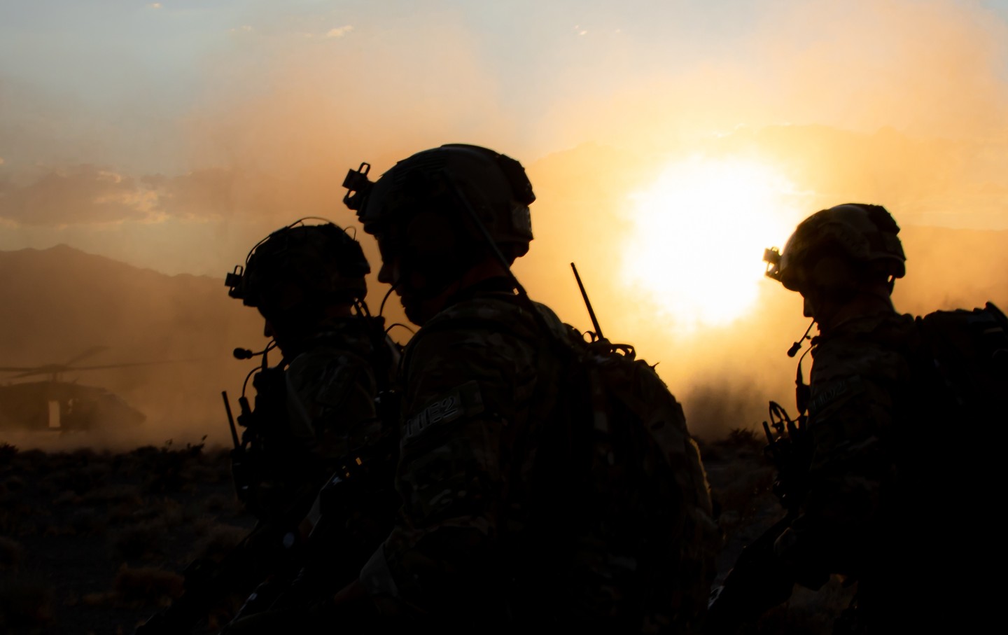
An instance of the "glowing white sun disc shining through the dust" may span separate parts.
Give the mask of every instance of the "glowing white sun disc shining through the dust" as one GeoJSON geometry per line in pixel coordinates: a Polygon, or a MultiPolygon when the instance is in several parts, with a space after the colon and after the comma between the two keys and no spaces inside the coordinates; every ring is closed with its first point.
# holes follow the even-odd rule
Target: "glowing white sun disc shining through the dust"
{"type": "Polygon", "coordinates": [[[630,197],[624,279],[679,330],[727,325],[756,300],[763,249],[780,245],[801,218],[793,197],[787,179],[754,160],[670,164],[630,197]]]}

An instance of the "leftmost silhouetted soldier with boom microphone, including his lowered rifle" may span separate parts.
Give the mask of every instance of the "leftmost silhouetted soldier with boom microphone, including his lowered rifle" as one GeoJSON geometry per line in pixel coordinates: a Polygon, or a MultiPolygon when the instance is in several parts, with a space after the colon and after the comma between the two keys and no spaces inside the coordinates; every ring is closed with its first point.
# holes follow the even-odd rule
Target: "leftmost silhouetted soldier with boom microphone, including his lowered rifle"
{"type": "Polygon", "coordinates": [[[271,338],[259,353],[235,352],[262,356],[255,407],[240,400],[245,429],[232,452],[239,499],[259,522],[223,565],[198,561],[186,572],[186,595],[161,616],[165,631],[191,629],[222,594],[247,595],[264,579],[244,611],[285,594],[291,603],[331,596],[388,532],[399,505],[398,411],[391,405],[382,416],[379,397],[391,401],[399,351],[364,303],[369,271],[343,229],[298,221],[228,275],[229,294],[259,310],[271,338]],[[282,360],[270,367],[274,346],[282,360]]]}

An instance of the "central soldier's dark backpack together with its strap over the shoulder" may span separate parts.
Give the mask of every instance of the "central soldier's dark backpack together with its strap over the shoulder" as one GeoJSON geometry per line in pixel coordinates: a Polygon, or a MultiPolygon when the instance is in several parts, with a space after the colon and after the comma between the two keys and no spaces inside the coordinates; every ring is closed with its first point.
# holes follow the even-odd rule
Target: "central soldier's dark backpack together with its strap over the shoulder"
{"type": "Polygon", "coordinates": [[[503,292],[456,303],[410,346],[457,328],[540,352],[522,397],[534,416],[500,443],[512,470],[499,500],[508,628],[698,632],[720,533],[699,449],[654,368],[503,292]]]}

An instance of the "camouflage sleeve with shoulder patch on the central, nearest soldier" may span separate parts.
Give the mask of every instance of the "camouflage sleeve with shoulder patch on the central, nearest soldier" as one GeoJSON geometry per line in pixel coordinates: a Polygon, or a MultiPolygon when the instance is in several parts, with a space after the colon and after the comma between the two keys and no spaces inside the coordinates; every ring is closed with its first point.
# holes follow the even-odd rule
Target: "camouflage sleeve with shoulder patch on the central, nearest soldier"
{"type": "Polygon", "coordinates": [[[397,477],[402,513],[361,582],[396,611],[486,615],[500,609],[506,439],[527,414],[535,350],[479,331],[421,333],[411,347],[397,477]]]}

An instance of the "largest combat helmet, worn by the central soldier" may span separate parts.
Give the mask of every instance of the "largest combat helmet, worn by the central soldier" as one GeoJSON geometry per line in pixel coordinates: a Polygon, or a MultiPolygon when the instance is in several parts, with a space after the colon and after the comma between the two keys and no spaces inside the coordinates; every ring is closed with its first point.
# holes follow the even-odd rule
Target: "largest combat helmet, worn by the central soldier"
{"type": "Polygon", "coordinates": [[[478,145],[451,143],[399,161],[376,182],[368,180],[369,168],[362,163],[344,181],[350,190],[344,203],[357,212],[369,234],[387,238],[419,214],[448,213],[456,215],[454,222],[466,229],[471,244],[485,246],[489,235],[511,258],[528,252],[528,206],[535,195],[515,159],[478,145]]]}

